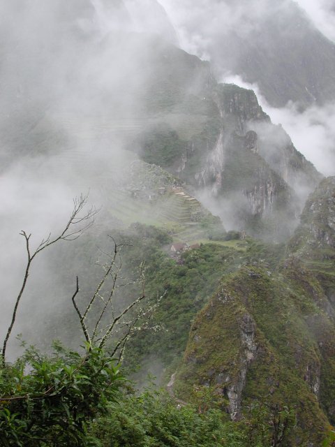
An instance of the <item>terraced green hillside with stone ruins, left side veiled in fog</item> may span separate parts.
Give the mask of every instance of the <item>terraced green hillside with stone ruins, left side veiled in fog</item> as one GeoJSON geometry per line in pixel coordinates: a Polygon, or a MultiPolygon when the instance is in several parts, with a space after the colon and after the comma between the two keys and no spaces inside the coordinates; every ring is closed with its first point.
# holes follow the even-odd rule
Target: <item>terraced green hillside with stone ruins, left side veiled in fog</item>
{"type": "Polygon", "coordinates": [[[115,228],[140,222],[167,230],[175,242],[188,243],[208,240],[216,227],[224,231],[219,219],[177,177],[132,152],[122,151],[111,160],[107,151],[97,152],[92,159],[89,151],[67,150],[54,156],[51,164],[36,164],[35,170],[46,167],[66,180],[73,196],[90,191],[91,201],[102,207],[106,217],[101,220],[115,228]]]}

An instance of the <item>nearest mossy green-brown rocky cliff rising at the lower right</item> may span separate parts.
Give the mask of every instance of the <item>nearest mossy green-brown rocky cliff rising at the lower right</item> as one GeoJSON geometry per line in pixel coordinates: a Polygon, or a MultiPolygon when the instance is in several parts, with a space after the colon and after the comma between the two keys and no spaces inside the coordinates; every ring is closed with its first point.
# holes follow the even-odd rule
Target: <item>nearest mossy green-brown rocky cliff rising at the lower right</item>
{"type": "Polygon", "coordinates": [[[278,268],[263,259],[224,279],[193,322],[175,384],[182,399],[211,390],[232,420],[255,400],[292,406],[295,446],[320,446],[335,422],[334,186],[325,179],[308,199],[278,268]]]}

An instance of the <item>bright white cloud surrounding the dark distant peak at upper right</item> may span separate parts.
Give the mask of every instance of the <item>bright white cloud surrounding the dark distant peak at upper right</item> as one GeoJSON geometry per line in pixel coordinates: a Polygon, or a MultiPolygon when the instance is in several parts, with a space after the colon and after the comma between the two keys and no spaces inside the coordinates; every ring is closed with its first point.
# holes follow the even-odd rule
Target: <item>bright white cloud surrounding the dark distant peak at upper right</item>
{"type": "MultiPolygon", "coordinates": [[[[270,17],[276,17],[276,14],[280,13],[281,18],[278,18],[278,20],[286,20],[286,22],[284,22],[284,25],[281,24],[278,39],[280,40],[288,33],[290,34],[288,43],[284,42],[283,45],[290,45],[290,40],[294,45],[293,33],[299,32],[295,30],[299,29],[300,26],[307,26],[306,17],[327,38],[334,40],[335,20],[334,3],[332,1],[298,1],[297,3],[306,14],[305,18],[304,15],[301,16],[302,22],[299,21],[300,19],[298,20],[299,15],[296,17],[297,10],[292,8],[294,2],[292,3],[289,0],[276,2],[275,4],[267,0],[254,0],[248,2],[248,7],[246,7],[244,1],[232,3],[227,1],[177,2],[175,0],[161,0],[161,3],[172,19],[181,47],[184,47],[186,51],[198,54],[199,57],[209,59],[214,66],[216,78],[219,81],[233,82],[241,87],[253,89],[263,110],[271,117],[274,124],[283,125],[299,152],[304,154],[306,159],[311,161],[323,175],[334,175],[335,101],[331,99],[327,101],[326,95],[323,104],[313,104],[313,100],[312,104],[301,108],[299,101],[290,100],[290,96],[288,96],[288,101],[283,106],[274,107],[269,101],[273,97],[269,96],[267,98],[267,90],[264,85],[261,86],[258,82],[247,82],[243,74],[234,72],[234,57],[237,58],[240,50],[234,46],[235,38],[231,37],[237,33],[241,41],[253,41],[264,23],[270,17]],[[232,45],[232,52],[236,52],[235,56],[234,54],[231,56],[227,50],[223,50],[227,44],[232,45]]],[[[276,20],[276,18],[271,20],[276,20]]],[[[258,41],[255,40],[255,42],[258,41]]],[[[263,44],[267,45],[266,42],[263,44]]],[[[269,45],[273,45],[273,42],[269,42],[269,45]]],[[[250,48],[252,49],[252,44],[250,48]]],[[[280,60],[285,64],[285,54],[288,53],[288,48],[285,47],[283,50],[281,47],[273,47],[273,50],[275,49],[283,53],[279,57],[284,56],[284,59],[280,60]]],[[[316,48],[315,51],[318,51],[318,49],[316,48]]],[[[335,47],[330,51],[334,54],[335,47]]],[[[252,59],[252,52],[250,57],[252,59]]],[[[306,58],[308,54],[304,55],[297,52],[296,57],[306,58]]],[[[295,58],[292,59],[292,63],[295,64],[295,58]]],[[[267,71],[267,60],[263,60],[262,64],[263,66],[260,65],[259,67],[259,74],[262,70],[267,71]]],[[[271,64],[270,59],[269,64],[271,64]]],[[[309,69],[313,71],[313,66],[309,69]]],[[[334,73],[334,70],[332,73],[334,73]]],[[[276,75],[276,73],[274,72],[273,75],[276,75]]],[[[288,75],[290,74],[288,73],[288,75]]],[[[299,77],[299,69],[293,75],[299,77]]],[[[331,73],[330,75],[332,76],[331,73]]],[[[319,82],[322,82],[322,80],[319,82]]],[[[274,86],[276,87],[275,81],[274,86]]]]}

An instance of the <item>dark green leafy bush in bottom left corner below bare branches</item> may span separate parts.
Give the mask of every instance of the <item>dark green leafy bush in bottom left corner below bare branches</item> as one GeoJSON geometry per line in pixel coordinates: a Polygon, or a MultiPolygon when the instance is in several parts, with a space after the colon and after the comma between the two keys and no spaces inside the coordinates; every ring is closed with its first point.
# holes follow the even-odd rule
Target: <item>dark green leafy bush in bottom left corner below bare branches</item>
{"type": "Polygon", "coordinates": [[[0,369],[0,441],[5,447],[99,446],[87,423],[119,398],[115,360],[87,347],[53,356],[28,349],[0,369]]]}

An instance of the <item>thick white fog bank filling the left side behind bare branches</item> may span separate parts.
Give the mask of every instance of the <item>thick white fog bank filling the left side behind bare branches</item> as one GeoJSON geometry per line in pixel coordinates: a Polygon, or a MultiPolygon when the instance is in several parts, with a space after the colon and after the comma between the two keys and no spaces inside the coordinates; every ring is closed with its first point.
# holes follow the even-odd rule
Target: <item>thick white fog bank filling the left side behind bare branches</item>
{"type": "MultiPolygon", "coordinates": [[[[124,146],[142,126],[139,111],[152,75],[151,37],[137,34],[143,10],[132,1],[127,6],[100,0],[1,2],[1,339],[24,278],[20,231],[31,233],[34,249],[64,228],[72,198],[88,192],[89,203],[102,207],[91,239],[114,226],[112,191],[126,186],[136,159],[124,146]]],[[[154,17],[164,18],[157,8],[154,17]]],[[[150,20],[145,27],[157,26],[150,20]]],[[[174,38],[168,25],[166,32],[174,38]]],[[[59,244],[64,247],[57,250],[67,249],[59,244]]],[[[54,270],[57,254],[49,250],[32,266],[11,346],[18,332],[38,341],[38,328],[47,329],[52,313],[59,312],[57,301],[61,306],[68,300],[68,284],[75,286],[75,274],[82,272],[82,265],[72,263],[73,283],[68,278],[63,284],[54,270]]]]}

